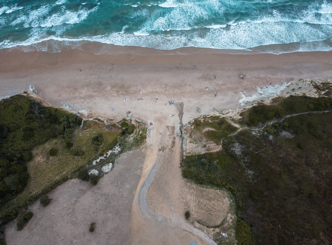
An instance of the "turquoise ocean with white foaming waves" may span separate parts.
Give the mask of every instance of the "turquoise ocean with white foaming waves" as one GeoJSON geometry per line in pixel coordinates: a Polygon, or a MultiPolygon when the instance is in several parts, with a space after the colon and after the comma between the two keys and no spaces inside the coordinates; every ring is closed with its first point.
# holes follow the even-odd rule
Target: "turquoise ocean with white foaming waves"
{"type": "MultiPolygon", "coordinates": [[[[0,0],[0,49],[332,50],[332,0],[0,0]]],[[[100,52],[96,51],[96,53],[100,52]]]]}

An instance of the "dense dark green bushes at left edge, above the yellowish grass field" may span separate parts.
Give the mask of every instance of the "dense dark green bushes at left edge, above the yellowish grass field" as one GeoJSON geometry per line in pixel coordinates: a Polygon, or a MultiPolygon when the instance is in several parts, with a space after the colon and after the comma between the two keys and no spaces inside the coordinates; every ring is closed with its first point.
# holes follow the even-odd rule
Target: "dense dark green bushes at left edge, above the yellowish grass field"
{"type": "MultiPolygon", "coordinates": [[[[52,107],[44,107],[23,95],[0,101],[0,205],[21,193],[28,181],[31,150],[50,138],[71,142],[81,119],[52,107]]],[[[56,154],[56,149],[49,150],[56,154]]]]}

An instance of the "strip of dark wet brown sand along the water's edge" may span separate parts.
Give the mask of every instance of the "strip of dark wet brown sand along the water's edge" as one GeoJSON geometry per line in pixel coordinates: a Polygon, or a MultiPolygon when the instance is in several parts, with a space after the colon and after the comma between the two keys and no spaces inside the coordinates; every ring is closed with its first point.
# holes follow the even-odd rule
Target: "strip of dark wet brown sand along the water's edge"
{"type": "MultiPolygon", "coordinates": [[[[332,54],[331,51],[296,51],[290,53],[260,53],[255,51],[245,50],[225,50],[213,48],[197,48],[197,47],[182,47],[172,50],[159,50],[148,47],[138,46],[116,46],[109,44],[109,49],[104,53],[94,53],[95,49],[101,49],[102,43],[85,43],[80,45],[81,48],[64,49],[60,52],[47,51],[24,51],[21,48],[7,48],[0,49],[0,73],[9,72],[15,69],[38,69],[39,66],[64,66],[72,63],[92,63],[103,62],[107,63],[109,60],[114,60],[117,64],[128,64],[127,56],[141,57],[140,64],[151,64],[151,57],[163,57],[163,59],[153,60],[153,64],[167,65],[173,64],[172,60],[182,59],[184,62],[197,62],[195,64],[209,64],[209,65],[225,65],[241,64],[243,62],[328,62],[328,56],[332,54]],[[109,53],[107,53],[109,52],[109,53]],[[228,53],[232,52],[232,53],[228,53]],[[172,57],[172,58],[169,58],[172,57]],[[181,58],[180,58],[181,57],[181,58]],[[307,61],[303,59],[314,59],[307,61]],[[319,60],[317,60],[319,59],[319,60]],[[19,67],[20,68],[19,68],[19,67]]],[[[113,62],[114,63],[114,62],[113,62]]],[[[42,69],[39,67],[39,69],[42,69]]]]}

